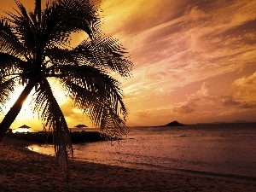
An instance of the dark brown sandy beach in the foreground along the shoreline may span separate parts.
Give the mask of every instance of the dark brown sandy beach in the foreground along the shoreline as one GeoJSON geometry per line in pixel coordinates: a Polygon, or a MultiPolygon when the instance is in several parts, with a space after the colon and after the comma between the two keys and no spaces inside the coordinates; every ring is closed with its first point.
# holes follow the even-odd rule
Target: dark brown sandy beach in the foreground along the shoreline
{"type": "MultiPolygon", "coordinates": [[[[69,191],[55,158],[28,151],[23,143],[0,143],[0,191],[69,191]]],[[[256,191],[255,178],[193,172],[154,172],[71,161],[70,191],[256,191]]]]}

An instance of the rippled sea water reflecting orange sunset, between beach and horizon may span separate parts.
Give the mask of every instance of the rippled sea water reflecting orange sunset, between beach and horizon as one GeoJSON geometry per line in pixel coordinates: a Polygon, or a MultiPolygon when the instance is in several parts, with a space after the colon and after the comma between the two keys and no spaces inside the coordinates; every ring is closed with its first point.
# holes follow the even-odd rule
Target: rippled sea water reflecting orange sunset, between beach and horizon
{"type": "MultiPolygon", "coordinates": [[[[53,154],[49,145],[32,145],[53,154]]],[[[131,127],[120,142],[74,144],[74,160],[256,179],[256,123],[131,127]]]]}

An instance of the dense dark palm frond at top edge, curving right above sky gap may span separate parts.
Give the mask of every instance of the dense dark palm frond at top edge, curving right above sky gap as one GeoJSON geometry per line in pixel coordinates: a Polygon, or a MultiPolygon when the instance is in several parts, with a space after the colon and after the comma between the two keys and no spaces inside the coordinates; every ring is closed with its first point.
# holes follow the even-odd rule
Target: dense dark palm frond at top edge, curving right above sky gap
{"type": "Polygon", "coordinates": [[[48,4],[42,13],[44,42],[48,47],[69,43],[71,32],[83,30],[92,37],[91,24],[96,22],[96,6],[89,0],[59,0],[48,4]]]}

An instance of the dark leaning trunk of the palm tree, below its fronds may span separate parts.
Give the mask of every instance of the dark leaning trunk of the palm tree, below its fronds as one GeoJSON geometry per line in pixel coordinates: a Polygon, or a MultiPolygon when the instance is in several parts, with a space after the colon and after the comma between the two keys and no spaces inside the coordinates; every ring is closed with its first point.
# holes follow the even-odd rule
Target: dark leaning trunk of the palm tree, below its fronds
{"type": "Polygon", "coordinates": [[[13,107],[9,109],[9,112],[3,118],[3,121],[0,124],[0,142],[3,141],[3,137],[9,130],[10,125],[12,125],[12,123],[15,121],[16,117],[20,113],[23,102],[25,102],[26,97],[30,94],[34,86],[35,81],[29,81],[29,83],[26,84],[25,89],[21,92],[13,107]]]}

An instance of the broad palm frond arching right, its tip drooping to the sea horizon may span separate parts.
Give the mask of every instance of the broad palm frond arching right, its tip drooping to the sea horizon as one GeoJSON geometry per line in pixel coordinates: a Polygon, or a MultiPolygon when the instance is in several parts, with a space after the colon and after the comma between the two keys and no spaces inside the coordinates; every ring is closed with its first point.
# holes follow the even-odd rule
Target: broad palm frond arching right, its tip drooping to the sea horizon
{"type": "Polygon", "coordinates": [[[119,82],[90,66],[61,66],[59,70],[66,74],[61,78],[61,83],[73,96],[75,105],[103,132],[109,133],[108,130],[115,129],[115,137],[124,135],[127,110],[122,101],[119,82]]]}

